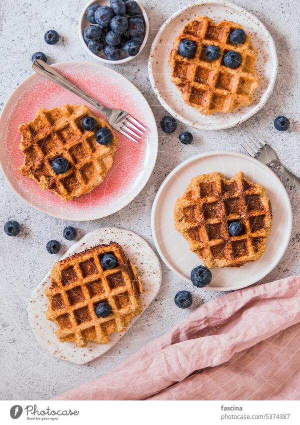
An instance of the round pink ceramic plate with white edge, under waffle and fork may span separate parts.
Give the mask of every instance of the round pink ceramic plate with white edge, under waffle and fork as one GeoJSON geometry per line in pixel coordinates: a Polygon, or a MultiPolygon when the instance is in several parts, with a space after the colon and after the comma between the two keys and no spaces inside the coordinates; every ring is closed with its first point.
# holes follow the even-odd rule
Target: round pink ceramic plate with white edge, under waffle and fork
{"type": "MultiPolygon", "coordinates": [[[[86,102],[34,74],[12,93],[0,117],[0,164],[3,173],[12,189],[25,202],[46,214],[76,221],[106,217],[131,202],[148,181],[158,147],[155,119],[142,94],[115,71],[88,62],[58,63],[53,68],[105,106],[127,111],[147,128],[145,136],[137,144],[116,133],[119,144],[113,166],[103,183],[89,194],[66,202],[52,192],[43,191],[36,182],[17,171],[23,162],[23,155],[18,149],[18,126],[32,120],[40,107],[50,109],[86,102]]],[[[88,107],[100,116],[93,107],[88,107]]]]}

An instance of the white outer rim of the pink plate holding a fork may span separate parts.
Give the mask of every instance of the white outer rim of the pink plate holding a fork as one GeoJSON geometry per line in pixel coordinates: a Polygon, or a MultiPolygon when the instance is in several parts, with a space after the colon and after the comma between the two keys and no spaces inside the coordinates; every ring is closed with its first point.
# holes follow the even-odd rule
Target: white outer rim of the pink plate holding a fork
{"type": "MultiPolygon", "coordinates": [[[[2,174],[3,174],[3,176],[5,177],[5,180],[7,181],[7,183],[9,184],[9,186],[10,186],[10,188],[13,190],[13,192],[20,198],[20,199],[22,199],[26,204],[28,204],[30,207],[33,207],[34,209],[36,209],[37,211],[40,211],[40,212],[42,212],[42,213],[44,213],[44,214],[47,214],[47,215],[50,215],[51,217],[56,217],[56,218],[59,218],[59,219],[61,219],[61,220],[68,220],[68,221],[90,221],[90,220],[98,220],[98,219],[100,219],[100,218],[104,218],[104,217],[107,217],[107,216],[109,216],[109,215],[112,215],[112,214],[114,214],[114,213],[116,213],[116,212],[118,212],[118,211],[120,211],[122,208],[124,208],[125,206],[127,206],[128,204],[130,204],[130,202],[132,202],[135,198],[136,198],[136,196],[142,191],[142,189],[144,188],[144,186],[147,184],[147,182],[148,182],[148,180],[149,180],[149,178],[151,177],[151,175],[152,175],[152,171],[153,171],[153,169],[154,169],[154,166],[155,166],[155,163],[156,163],[156,159],[157,159],[157,153],[158,153],[158,131],[157,131],[157,126],[156,126],[156,120],[155,120],[155,117],[154,117],[154,115],[153,115],[153,112],[152,112],[152,110],[151,110],[151,108],[150,108],[150,105],[148,104],[148,101],[146,100],[146,98],[144,97],[144,95],[138,90],[138,88],[137,87],[135,87],[134,86],[134,84],[133,83],[131,83],[131,81],[129,81],[129,80],[127,80],[124,76],[122,76],[121,74],[119,74],[118,72],[116,72],[116,71],[114,71],[114,70],[112,70],[112,69],[110,69],[110,68],[108,68],[107,69],[107,67],[104,67],[103,65],[100,65],[100,64],[96,64],[96,63],[94,63],[94,62],[89,62],[89,61],[65,61],[65,62],[57,62],[57,63],[55,63],[55,64],[51,64],[50,65],[50,67],[51,66],[55,66],[55,65],[58,65],[58,66],[65,66],[65,65],[68,65],[68,64],[72,64],[72,65],[92,65],[92,66],[96,66],[96,67],[100,67],[100,68],[102,68],[102,69],[104,69],[104,70],[109,70],[109,72],[111,72],[112,74],[116,74],[119,78],[121,78],[121,79],[124,79],[124,80],[126,80],[126,82],[127,83],[129,83],[129,85],[131,85],[132,87],[133,87],[133,89],[134,90],[137,90],[138,92],[139,92],[139,94],[142,96],[142,98],[144,99],[144,101],[145,101],[145,103],[146,103],[146,105],[148,106],[148,108],[149,108],[149,117],[150,117],[150,119],[153,121],[153,123],[155,123],[155,125],[153,125],[153,126],[151,126],[151,132],[153,133],[152,134],[152,140],[151,140],[151,142],[153,143],[153,149],[151,149],[151,154],[150,154],[150,157],[152,158],[152,164],[150,164],[150,167],[146,167],[146,171],[147,171],[147,173],[148,173],[148,176],[146,177],[146,179],[145,179],[145,181],[144,181],[144,183],[141,185],[141,186],[139,186],[138,187],[138,189],[137,190],[135,190],[135,192],[133,192],[133,195],[132,196],[130,196],[129,198],[128,198],[128,200],[126,201],[126,203],[124,203],[124,205],[122,205],[122,206],[120,206],[120,207],[116,207],[115,209],[113,209],[111,212],[109,212],[109,214],[95,214],[95,215],[93,215],[93,216],[90,216],[90,215],[88,215],[87,217],[80,217],[80,219],[78,220],[78,219],[76,219],[76,218],[69,218],[68,216],[67,216],[67,214],[66,215],[64,215],[63,214],[63,210],[62,209],[60,209],[60,210],[58,210],[57,209],[57,213],[56,214],[50,214],[46,209],[44,209],[44,208],[38,208],[38,207],[36,207],[36,206],[33,206],[24,196],[22,196],[20,193],[18,193],[18,191],[13,187],[13,185],[12,185],[12,183],[10,182],[10,180],[8,179],[8,177],[7,177],[7,175],[6,175],[6,173],[4,172],[4,167],[3,167],[3,165],[2,165],[2,162],[1,162],[1,156],[0,156],[0,169],[1,169],[1,171],[2,171],[2,174]],[[61,211],[61,214],[59,214],[58,213],[58,211],[61,211]]],[[[14,97],[15,96],[17,96],[18,95],[18,93],[19,92],[21,92],[21,89],[22,89],[22,86],[26,83],[26,82],[28,82],[30,79],[33,79],[33,78],[36,78],[37,77],[37,75],[34,73],[34,74],[31,74],[31,75],[29,75],[28,77],[26,77],[13,91],[12,91],[12,93],[8,96],[8,98],[7,98],[7,100],[6,100],[6,102],[5,102],[5,104],[4,104],[4,106],[3,106],[3,109],[2,109],[2,111],[1,111],[1,114],[0,114],[0,132],[1,132],[1,128],[2,128],[2,126],[5,124],[4,122],[2,122],[2,121],[4,121],[4,115],[5,115],[5,113],[6,113],[6,109],[8,108],[8,106],[9,106],[9,104],[13,101],[13,99],[14,99],[14,97]]],[[[66,201],[67,202],[67,201],[66,201]]],[[[88,214],[90,214],[90,213],[88,213],[88,214]]]]}

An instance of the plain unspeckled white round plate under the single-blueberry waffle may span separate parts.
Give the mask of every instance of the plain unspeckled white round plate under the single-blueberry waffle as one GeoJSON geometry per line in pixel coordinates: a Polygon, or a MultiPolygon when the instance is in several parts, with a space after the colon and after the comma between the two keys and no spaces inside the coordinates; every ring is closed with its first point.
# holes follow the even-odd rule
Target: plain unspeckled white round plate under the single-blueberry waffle
{"type": "Polygon", "coordinates": [[[186,282],[190,282],[192,268],[203,263],[174,228],[174,204],[183,195],[192,177],[214,171],[223,173],[227,178],[243,171],[247,179],[267,189],[272,206],[272,230],[263,256],[239,268],[211,269],[212,281],[206,288],[229,291],[257,282],[276,266],[289,241],[292,213],[288,195],[278,177],[266,165],[251,157],[234,152],[208,152],[182,162],[158,189],[152,206],[151,228],[161,259],[186,282]]]}

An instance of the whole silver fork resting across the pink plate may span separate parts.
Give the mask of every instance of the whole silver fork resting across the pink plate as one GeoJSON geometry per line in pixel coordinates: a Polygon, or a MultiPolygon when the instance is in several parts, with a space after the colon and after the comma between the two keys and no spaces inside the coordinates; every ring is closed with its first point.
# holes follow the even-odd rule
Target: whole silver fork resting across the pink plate
{"type": "Polygon", "coordinates": [[[101,105],[87,93],[84,93],[78,86],[68,81],[52,67],[49,67],[45,62],[36,59],[32,63],[32,69],[37,74],[40,74],[42,77],[47,78],[64,89],[69,90],[81,99],[90,103],[99,111],[103,112],[111,127],[128,137],[128,139],[133,142],[138,143],[141,136],[144,134],[142,130],[146,131],[146,128],[136,121],[135,118],[131,117],[128,112],[122,111],[121,109],[109,109],[101,105]]]}

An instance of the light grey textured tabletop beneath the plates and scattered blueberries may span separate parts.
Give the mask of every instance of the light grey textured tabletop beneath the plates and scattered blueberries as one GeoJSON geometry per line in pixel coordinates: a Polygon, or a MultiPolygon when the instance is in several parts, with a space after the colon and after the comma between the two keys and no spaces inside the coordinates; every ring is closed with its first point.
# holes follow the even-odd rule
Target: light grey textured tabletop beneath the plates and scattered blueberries
{"type": "MultiPolygon", "coordinates": [[[[57,0],[0,0],[0,87],[1,103],[15,87],[31,74],[30,57],[35,51],[44,51],[51,62],[87,60],[77,36],[77,20],[84,0],[72,2],[57,0]],[[13,10],[12,10],[13,4],[13,10]],[[55,5],[55,11],[53,9],[55,5]],[[64,37],[63,44],[47,46],[43,42],[46,30],[54,28],[64,37]]],[[[143,5],[150,20],[150,44],[166,18],[188,4],[188,0],[144,0],[143,5]]],[[[299,149],[299,20],[298,2],[292,0],[235,1],[254,13],[272,34],[279,59],[279,72],[274,92],[257,115],[234,129],[218,132],[191,130],[194,143],[183,146],[177,140],[182,126],[173,137],[166,137],[159,129],[159,155],[154,172],[144,190],[127,207],[102,220],[70,223],[82,235],[100,226],[116,225],[131,229],[142,235],[153,246],[150,231],[150,209],[157,188],[170,170],[182,160],[208,150],[239,151],[239,141],[254,128],[277,150],[282,162],[300,175],[299,149]],[[279,133],[273,128],[277,115],[290,118],[291,130],[279,133]]],[[[155,99],[147,76],[147,46],[136,61],[114,67],[127,77],[144,94],[151,105],[157,122],[164,115],[155,99]]],[[[279,265],[263,279],[263,282],[298,273],[299,258],[299,205],[300,192],[284,182],[290,195],[294,219],[292,239],[279,265]]],[[[104,357],[88,365],[75,366],[56,360],[45,354],[37,345],[27,319],[30,295],[41,277],[50,268],[54,256],[45,251],[49,239],[61,242],[65,222],[33,210],[11,191],[0,175],[1,215],[0,229],[7,219],[22,224],[21,235],[9,238],[0,230],[0,398],[47,399],[60,391],[94,378],[136,351],[145,342],[167,331],[182,320],[189,311],[173,305],[173,296],[187,285],[163,267],[163,282],[158,297],[149,306],[124,338],[104,357]]],[[[71,242],[63,241],[63,251],[71,242]]],[[[189,288],[190,289],[190,288],[189,288]]],[[[196,301],[208,301],[216,296],[205,290],[193,290],[196,301]]]]}

